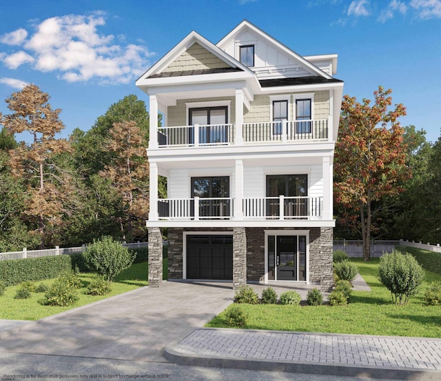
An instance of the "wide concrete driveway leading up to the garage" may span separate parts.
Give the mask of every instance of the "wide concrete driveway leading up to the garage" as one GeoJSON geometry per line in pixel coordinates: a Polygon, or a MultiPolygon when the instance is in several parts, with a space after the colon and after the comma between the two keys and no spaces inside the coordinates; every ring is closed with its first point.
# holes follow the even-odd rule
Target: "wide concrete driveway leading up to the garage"
{"type": "Polygon", "coordinates": [[[167,361],[163,348],[232,302],[231,283],[164,282],[0,332],[0,351],[167,361]]]}

